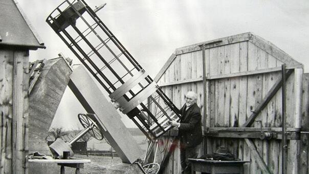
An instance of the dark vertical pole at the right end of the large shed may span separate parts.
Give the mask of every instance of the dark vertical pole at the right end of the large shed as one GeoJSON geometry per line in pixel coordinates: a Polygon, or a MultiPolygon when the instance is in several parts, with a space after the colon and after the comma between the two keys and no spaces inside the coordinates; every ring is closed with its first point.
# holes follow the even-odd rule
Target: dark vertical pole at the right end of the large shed
{"type": "Polygon", "coordinates": [[[281,74],[282,74],[282,174],[285,173],[285,165],[286,165],[286,134],[285,134],[285,64],[281,66],[281,74]]]}

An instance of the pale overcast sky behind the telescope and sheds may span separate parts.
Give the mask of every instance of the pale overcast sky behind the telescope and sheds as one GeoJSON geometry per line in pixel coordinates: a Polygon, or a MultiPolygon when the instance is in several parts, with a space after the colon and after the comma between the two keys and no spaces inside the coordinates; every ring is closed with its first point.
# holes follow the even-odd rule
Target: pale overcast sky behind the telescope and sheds
{"type": "MultiPolygon", "coordinates": [[[[47,49],[31,51],[30,61],[57,57],[59,52],[79,63],[45,22],[63,2],[17,0],[47,49]]],[[[230,35],[253,32],[271,41],[296,61],[309,67],[309,1],[205,1],[205,0],[88,0],[97,15],[154,77],[176,48],[230,35]]],[[[84,112],[66,90],[52,126],[72,129],[84,112]],[[72,121],[73,120],[73,121],[72,121]],[[68,124],[68,123],[71,124],[68,124]]],[[[124,116],[124,118],[126,118],[124,116]]],[[[133,126],[124,119],[127,126],[133,126]]]]}

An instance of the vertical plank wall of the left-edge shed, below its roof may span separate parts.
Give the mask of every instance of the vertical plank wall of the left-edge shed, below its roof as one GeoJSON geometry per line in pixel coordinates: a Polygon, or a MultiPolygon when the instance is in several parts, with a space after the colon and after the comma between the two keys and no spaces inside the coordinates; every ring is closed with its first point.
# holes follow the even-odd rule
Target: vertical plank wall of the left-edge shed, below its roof
{"type": "Polygon", "coordinates": [[[0,49],[0,173],[28,173],[29,52],[0,49]]]}

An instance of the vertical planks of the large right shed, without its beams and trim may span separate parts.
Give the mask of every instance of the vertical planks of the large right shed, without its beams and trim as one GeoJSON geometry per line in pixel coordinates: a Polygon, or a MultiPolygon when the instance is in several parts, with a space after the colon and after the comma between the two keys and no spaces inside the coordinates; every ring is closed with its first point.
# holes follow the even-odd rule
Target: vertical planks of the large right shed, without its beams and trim
{"type": "MultiPolygon", "coordinates": [[[[204,126],[210,127],[240,127],[249,118],[252,111],[260,104],[262,98],[268,93],[276,80],[281,77],[280,72],[266,72],[247,76],[235,76],[229,78],[209,79],[209,89],[206,95],[208,103],[204,105],[203,81],[195,81],[203,77],[203,54],[202,50],[178,54],[169,68],[161,76],[158,83],[165,93],[172,99],[177,107],[181,107],[187,91],[195,91],[198,94],[198,106],[204,114],[204,126]],[[194,82],[187,82],[190,79],[194,82]],[[173,84],[179,81],[180,83],[173,84]],[[184,82],[184,83],[181,83],[184,82]],[[166,85],[170,83],[170,85],[166,85]]],[[[250,41],[236,42],[234,44],[208,48],[205,50],[207,77],[229,75],[231,73],[267,70],[281,67],[283,63],[273,55],[257,47],[250,41]]],[[[286,126],[297,126],[295,101],[295,73],[286,81],[286,126]]],[[[296,90],[297,91],[297,90],[296,90]]],[[[262,127],[281,127],[282,103],[281,89],[271,99],[267,107],[262,110],[255,120],[261,121],[262,127]]],[[[255,122],[252,127],[259,127],[255,122]]],[[[206,127],[204,127],[206,129],[206,127]]],[[[164,139],[164,138],[163,138],[164,139]]],[[[165,137],[166,139],[166,137],[165,137]]],[[[273,173],[281,173],[281,141],[280,140],[253,140],[256,149],[268,168],[273,173]]],[[[289,173],[297,170],[297,144],[298,141],[288,141],[291,150],[288,153],[286,168],[289,173]],[[296,166],[296,167],[295,167],[296,166]]],[[[244,165],[244,173],[261,173],[261,170],[250,152],[246,142],[242,139],[208,138],[207,149],[204,153],[215,152],[218,148],[227,148],[232,154],[241,160],[251,161],[244,165]]],[[[176,161],[179,151],[175,151],[170,161],[180,167],[176,161]]],[[[160,160],[159,160],[160,161],[160,160]]],[[[170,166],[171,164],[169,164],[170,166]]],[[[166,171],[170,171],[167,169],[166,171]]],[[[168,172],[172,173],[172,172],[168,172]]]]}

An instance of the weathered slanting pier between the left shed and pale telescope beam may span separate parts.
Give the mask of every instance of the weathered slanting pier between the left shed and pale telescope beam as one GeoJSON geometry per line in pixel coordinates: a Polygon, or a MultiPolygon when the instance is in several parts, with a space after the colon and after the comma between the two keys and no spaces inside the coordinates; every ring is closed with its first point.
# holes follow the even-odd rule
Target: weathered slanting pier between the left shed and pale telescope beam
{"type": "Polygon", "coordinates": [[[48,130],[70,80],[71,69],[63,58],[48,60],[29,95],[29,151],[50,155],[48,130]]]}

